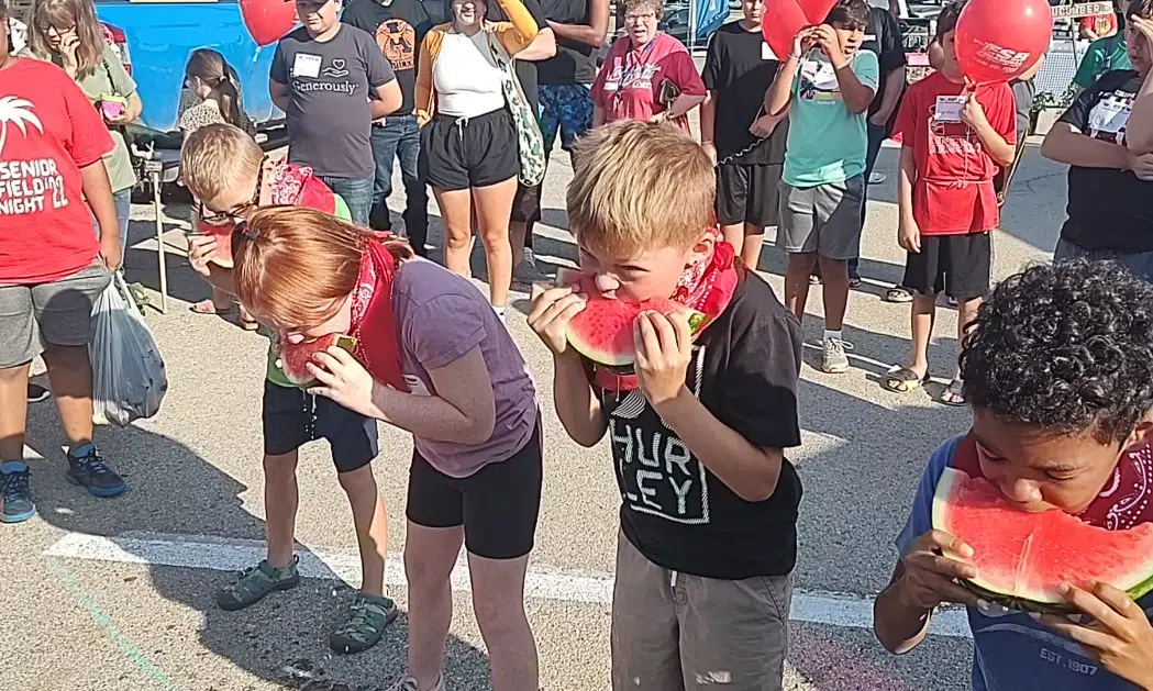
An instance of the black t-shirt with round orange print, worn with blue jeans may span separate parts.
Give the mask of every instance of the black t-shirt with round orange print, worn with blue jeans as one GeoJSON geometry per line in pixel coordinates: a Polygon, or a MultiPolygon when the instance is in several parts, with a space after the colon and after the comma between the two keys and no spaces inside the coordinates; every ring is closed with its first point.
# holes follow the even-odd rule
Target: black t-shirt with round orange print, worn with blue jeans
{"type": "Polygon", "coordinates": [[[376,38],[385,60],[397,73],[397,83],[405,96],[397,115],[413,112],[416,86],[416,60],[421,41],[435,24],[420,0],[356,0],[345,9],[340,21],[368,31],[376,38]]]}

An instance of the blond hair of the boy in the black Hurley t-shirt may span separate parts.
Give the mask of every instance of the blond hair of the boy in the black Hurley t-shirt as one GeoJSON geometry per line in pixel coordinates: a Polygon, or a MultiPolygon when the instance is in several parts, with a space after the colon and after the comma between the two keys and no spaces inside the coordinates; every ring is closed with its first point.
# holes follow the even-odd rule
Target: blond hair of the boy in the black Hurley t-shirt
{"type": "Polygon", "coordinates": [[[581,245],[616,257],[688,248],[714,225],[708,154],[670,124],[620,121],[576,143],[568,228],[581,245]]]}

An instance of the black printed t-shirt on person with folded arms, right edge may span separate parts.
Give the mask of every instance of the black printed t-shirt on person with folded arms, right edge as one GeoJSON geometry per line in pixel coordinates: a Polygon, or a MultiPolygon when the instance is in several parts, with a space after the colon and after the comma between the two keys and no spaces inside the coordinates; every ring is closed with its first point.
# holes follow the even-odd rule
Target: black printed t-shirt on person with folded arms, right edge
{"type": "MultiPolygon", "coordinates": [[[[1107,71],[1082,92],[1061,122],[1083,134],[1124,144],[1125,126],[1143,77],[1130,69],[1107,71]]],[[[1069,166],[1069,219],[1061,237],[1085,250],[1153,252],[1153,182],[1131,170],[1069,166]]]]}

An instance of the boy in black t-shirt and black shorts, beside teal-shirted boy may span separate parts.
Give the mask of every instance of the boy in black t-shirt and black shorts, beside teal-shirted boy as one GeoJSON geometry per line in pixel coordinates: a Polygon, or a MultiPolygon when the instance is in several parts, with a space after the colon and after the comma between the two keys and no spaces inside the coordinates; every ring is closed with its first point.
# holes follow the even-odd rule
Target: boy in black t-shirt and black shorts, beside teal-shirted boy
{"type": "Polygon", "coordinates": [[[781,217],[778,188],[785,162],[784,115],[764,113],[763,94],[781,62],[761,35],[762,0],[741,3],[744,18],[709,39],[701,79],[701,145],[717,165],[717,222],[746,266],[756,268],[764,228],[781,217]]]}

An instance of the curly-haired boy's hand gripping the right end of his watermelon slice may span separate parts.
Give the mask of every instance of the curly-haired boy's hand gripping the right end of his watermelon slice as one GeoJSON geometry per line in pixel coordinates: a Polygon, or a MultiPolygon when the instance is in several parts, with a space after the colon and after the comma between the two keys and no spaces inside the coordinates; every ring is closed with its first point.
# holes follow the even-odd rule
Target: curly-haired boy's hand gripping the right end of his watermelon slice
{"type": "Polygon", "coordinates": [[[1093,592],[1072,585],[1064,591],[1065,600],[1092,617],[1092,623],[1075,624],[1054,615],[1041,616],[1041,622],[1082,644],[1113,674],[1140,689],[1153,689],[1153,624],[1140,606],[1106,583],[1098,583],[1093,592]]]}

